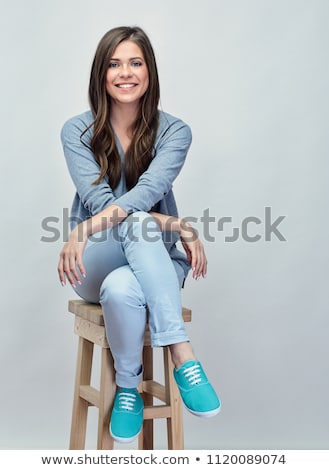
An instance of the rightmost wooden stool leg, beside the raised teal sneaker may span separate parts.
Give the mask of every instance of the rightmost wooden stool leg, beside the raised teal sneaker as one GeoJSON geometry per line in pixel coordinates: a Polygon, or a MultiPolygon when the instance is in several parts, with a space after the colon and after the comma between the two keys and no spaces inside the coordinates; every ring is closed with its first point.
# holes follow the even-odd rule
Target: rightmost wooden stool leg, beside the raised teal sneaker
{"type": "Polygon", "coordinates": [[[167,418],[168,449],[184,449],[182,399],[173,376],[173,363],[169,347],[163,348],[165,387],[167,403],[171,406],[171,417],[167,418]]]}

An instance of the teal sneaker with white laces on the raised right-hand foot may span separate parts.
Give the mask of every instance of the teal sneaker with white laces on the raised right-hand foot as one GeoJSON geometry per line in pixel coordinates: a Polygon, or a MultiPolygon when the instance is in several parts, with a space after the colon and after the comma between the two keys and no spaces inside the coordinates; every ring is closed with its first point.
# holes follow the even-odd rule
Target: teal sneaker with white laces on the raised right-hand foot
{"type": "Polygon", "coordinates": [[[174,369],[174,377],[188,411],[204,418],[210,418],[219,412],[219,398],[200,362],[184,362],[178,369],[174,369]]]}

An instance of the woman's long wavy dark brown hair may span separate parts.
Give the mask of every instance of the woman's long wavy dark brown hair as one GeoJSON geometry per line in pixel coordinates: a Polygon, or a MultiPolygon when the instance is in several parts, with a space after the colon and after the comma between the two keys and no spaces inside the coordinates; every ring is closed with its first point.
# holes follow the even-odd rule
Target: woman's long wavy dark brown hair
{"type": "MultiPolygon", "coordinates": [[[[110,124],[111,97],[106,91],[106,73],[117,46],[125,40],[135,42],[143,52],[149,74],[148,89],[140,100],[139,112],[132,130],[132,141],[125,155],[125,178],[128,190],[148,168],[158,128],[160,86],[151,42],[139,27],[118,27],[100,40],[92,63],[89,82],[89,104],[94,115],[90,147],[100,165],[98,184],[108,175],[115,189],[121,178],[121,159],[110,124]]],[[[91,127],[91,126],[90,126],[91,127]]]]}

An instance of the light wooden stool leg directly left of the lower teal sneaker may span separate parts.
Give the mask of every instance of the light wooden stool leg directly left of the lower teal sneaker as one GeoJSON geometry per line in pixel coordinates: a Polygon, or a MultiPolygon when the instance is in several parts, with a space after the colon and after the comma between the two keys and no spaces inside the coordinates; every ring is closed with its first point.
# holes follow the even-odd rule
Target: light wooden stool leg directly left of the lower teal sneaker
{"type": "Polygon", "coordinates": [[[101,382],[98,412],[97,449],[113,449],[113,438],[110,435],[109,423],[114,402],[116,385],[114,378],[113,358],[108,348],[102,348],[101,382]]]}

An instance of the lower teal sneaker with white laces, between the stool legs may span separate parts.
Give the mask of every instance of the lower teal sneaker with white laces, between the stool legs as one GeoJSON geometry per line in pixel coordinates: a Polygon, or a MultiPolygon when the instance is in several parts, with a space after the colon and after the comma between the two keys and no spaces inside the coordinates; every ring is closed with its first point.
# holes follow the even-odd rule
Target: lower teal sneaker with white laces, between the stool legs
{"type": "Polygon", "coordinates": [[[110,434],[117,442],[132,442],[141,432],[144,403],[136,388],[117,390],[110,422],[110,434]]]}

